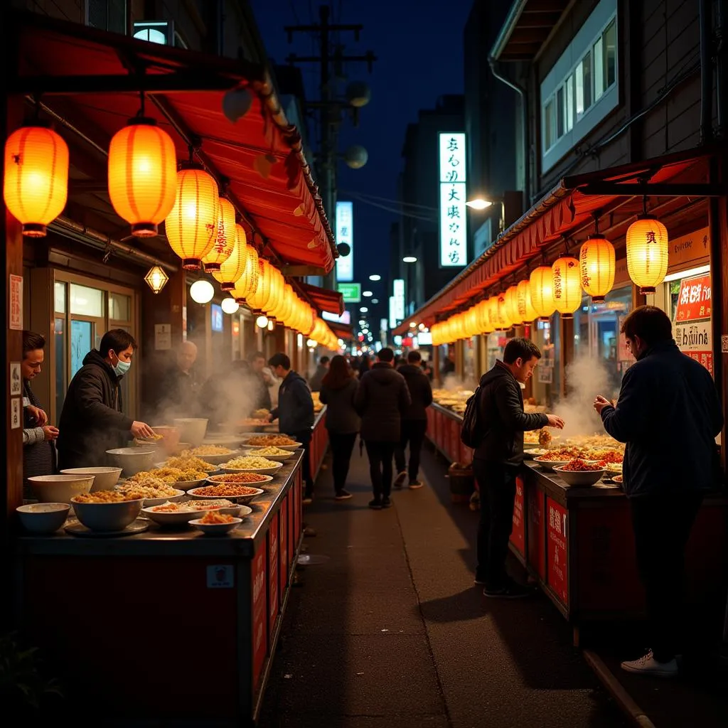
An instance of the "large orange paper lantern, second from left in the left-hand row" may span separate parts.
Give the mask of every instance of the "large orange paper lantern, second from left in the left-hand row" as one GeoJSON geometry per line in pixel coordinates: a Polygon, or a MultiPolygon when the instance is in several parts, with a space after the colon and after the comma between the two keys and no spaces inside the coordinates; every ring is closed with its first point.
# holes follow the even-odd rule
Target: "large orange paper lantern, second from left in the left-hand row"
{"type": "Polygon", "coordinates": [[[136,237],[154,237],[177,191],[177,156],[170,135],[144,116],[130,119],[108,147],[108,197],[136,237]]]}

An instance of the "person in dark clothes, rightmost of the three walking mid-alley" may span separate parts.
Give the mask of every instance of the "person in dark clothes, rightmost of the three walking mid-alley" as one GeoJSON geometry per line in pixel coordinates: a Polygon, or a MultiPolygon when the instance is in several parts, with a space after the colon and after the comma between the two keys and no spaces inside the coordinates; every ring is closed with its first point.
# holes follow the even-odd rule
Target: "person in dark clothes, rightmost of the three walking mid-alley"
{"type": "Polygon", "coordinates": [[[427,374],[422,370],[422,356],[419,352],[409,352],[407,363],[397,370],[407,382],[411,403],[402,416],[400,441],[395,448],[397,478],[395,488],[401,488],[409,476],[409,487],[412,490],[422,488],[417,478],[419,472],[419,456],[427,432],[427,408],[432,404],[432,386],[427,374]],[[410,446],[409,467],[405,470],[405,448],[410,446]]]}

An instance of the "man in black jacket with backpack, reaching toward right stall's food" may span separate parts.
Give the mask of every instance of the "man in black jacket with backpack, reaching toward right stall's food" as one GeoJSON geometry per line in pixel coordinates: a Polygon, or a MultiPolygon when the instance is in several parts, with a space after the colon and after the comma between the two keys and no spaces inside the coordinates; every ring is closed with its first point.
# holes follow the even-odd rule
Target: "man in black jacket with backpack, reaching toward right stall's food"
{"type": "Polygon", "coordinates": [[[531,593],[508,577],[505,560],[513,530],[515,478],[523,463],[523,432],[563,427],[561,417],[523,411],[521,382],[531,379],[540,358],[539,348],[529,339],[510,339],[503,361],[496,361],[483,375],[476,392],[482,439],[472,461],[480,488],[475,583],[483,584],[483,593],[489,597],[513,599],[531,593]]]}

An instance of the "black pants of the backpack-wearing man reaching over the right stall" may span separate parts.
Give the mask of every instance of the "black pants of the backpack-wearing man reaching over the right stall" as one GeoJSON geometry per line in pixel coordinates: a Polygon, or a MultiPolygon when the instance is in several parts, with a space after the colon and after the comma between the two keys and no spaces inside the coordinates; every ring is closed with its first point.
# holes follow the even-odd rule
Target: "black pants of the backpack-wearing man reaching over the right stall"
{"type": "Polygon", "coordinates": [[[505,570],[508,539],[513,531],[515,478],[518,468],[497,462],[473,460],[472,470],[480,488],[478,525],[478,569],[475,578],[488,589],[499,589],[509,581],[505,570]]]}

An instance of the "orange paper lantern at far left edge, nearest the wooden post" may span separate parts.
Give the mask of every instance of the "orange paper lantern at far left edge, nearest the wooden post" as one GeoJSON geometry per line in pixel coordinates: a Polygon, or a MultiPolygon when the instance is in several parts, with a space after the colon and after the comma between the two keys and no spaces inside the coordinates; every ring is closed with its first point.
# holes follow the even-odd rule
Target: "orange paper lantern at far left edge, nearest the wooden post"
{"type": "Polygon", "coordinates": [[[68,198],[68,145],[52,129],[28,126],[5,142],[5,206],[23,235],[45,237],[68,198]]]}

